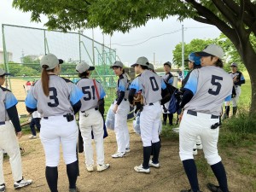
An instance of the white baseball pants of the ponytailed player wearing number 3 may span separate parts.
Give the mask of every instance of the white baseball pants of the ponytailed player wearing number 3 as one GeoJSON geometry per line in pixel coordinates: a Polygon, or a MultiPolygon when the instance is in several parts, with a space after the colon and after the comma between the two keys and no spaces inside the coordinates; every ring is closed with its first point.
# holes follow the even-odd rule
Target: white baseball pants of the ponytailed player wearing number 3
{"type": "Polygon", "coordinates": [[[67,122],[66,117],[51,116],[42,118],[40,139],[44,146],[46,166],[58,166],[60,161],[60,144],[63,158],[67,164],[77,160],[76,146],[79,137],[79,127],[76,120],[67,122]]]}

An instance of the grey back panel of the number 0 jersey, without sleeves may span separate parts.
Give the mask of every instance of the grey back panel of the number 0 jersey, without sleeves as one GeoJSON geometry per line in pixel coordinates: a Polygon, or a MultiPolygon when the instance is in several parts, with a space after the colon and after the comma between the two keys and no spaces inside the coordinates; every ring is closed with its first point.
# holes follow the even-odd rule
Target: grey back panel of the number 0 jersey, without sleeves
{"type": "Polygon", "coordinates": [[[161,79],[156,73],[145,70],[138,78],[142,83],[145,105],[158,102],[162,99],[161,79]]]}

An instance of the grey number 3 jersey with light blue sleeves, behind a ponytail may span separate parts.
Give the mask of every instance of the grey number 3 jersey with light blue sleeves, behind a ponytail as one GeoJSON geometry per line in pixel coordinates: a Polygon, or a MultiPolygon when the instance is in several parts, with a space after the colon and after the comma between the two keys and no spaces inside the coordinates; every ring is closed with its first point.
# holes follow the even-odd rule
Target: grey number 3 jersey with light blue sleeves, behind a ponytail
{"type": "Polygon", "coordinates": [[[26,96],[28,108],[38,108],[42,117],[60,116],[73,113],[72,105],[83,96],[77,85],[68,79],[49,75],[49,96],[44,95],[42,81],[39,79],[26,96]]]}

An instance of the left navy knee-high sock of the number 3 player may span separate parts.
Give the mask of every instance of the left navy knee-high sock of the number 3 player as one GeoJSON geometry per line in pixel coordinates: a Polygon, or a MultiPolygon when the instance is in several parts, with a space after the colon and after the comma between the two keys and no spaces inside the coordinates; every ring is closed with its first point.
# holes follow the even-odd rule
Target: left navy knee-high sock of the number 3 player
{"type": "Polygon", "coordinates": [[[45,177],[51,192],[58,192],[58,167],[46,166],[45,177]]]}

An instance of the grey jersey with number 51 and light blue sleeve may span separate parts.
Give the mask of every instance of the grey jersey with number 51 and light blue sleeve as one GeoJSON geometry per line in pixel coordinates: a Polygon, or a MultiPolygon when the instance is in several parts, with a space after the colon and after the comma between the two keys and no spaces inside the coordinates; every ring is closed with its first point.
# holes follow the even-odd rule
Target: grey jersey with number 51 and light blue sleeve
{"type": "Polygon", "coordinates": [[[80,111],[86,111],[90,108],[98,108],[98,100],[106,96],[105,91],[102,88],[102,84],[96,82],[96,87],[93,83],[93,79],[80,79],[77,83],[78,87],[83,91],[84,96],[81,99],[82,107],[80,111]],[[99,97],[97,98],[96,89],[98,91],[99,97]]]}

